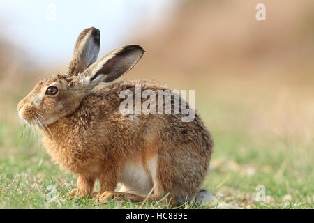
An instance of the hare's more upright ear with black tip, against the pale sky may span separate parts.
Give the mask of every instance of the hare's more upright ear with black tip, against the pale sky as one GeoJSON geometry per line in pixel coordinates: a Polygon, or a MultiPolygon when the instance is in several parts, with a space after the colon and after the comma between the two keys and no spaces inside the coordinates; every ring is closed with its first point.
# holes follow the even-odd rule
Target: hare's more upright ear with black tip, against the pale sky
{"type": "Polygon", "coordinates": [[[84,29],[77,37],[67,74],[78,75],[94,63],[99,54],[99,45],[100,31],[94,27],[84,29]]]}

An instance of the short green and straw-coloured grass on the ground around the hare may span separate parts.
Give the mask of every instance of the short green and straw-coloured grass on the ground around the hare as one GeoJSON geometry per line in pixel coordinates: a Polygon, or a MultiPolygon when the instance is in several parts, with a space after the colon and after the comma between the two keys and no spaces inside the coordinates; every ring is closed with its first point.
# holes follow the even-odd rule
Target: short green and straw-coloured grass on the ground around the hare
{"type": "MultiPolygon", "coordinates": [[[[218,201],[181,208],[221,208],[221,203],[240,208],[313,208],[313,127],[309,120],[303,125],[295,121],[311,114],[313,107],[302,107],[308,103],[299,101],[300,116],[294,116],[289,99],[281,112],[278,95],[255,92],[256,100],[249,100],[247,89],[240,91],[238,86],[237,95],[226,96],[217,93],[215,84],[212,89],[200,86],[196,107],[215,142],[203,188],[218,201]],[[262,201],[256,199],[259,188],[265,189],[262,201]]],[[[75,187],[76,176],[54,164],[36,134],[18,121],[15,107],[22,93],[1,95],[0,208],[169,208],[158,203],[70,199],[67,193],[75,187]]]]}

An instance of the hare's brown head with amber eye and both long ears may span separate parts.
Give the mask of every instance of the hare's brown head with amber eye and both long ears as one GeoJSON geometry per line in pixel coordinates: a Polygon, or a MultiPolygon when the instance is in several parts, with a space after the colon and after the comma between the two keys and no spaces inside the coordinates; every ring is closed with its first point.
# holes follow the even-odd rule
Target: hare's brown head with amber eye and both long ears
{"type": "Polygon", "coordinates": [[[17,105],[19,115],[30,124],[50,125],[75,112],[97,84],[112,82],[132,69],[144,54],[139,45],[126,45],[96,61],[99,45],[98,29],[84,29],[76,40],[68,72],[40,80],[17,105]]]}

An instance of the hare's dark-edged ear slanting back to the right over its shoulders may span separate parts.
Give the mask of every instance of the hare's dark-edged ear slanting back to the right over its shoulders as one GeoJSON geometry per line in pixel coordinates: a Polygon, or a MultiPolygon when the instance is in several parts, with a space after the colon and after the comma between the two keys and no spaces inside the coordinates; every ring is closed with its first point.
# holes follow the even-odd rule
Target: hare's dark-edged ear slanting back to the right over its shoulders
{"type": "Polygon", "coordinates": [[[85,82],[91,85],[112,82],[132,69],[143,54],[144,49],[139,45],[114,49],[84,71],[85,82]]]}

